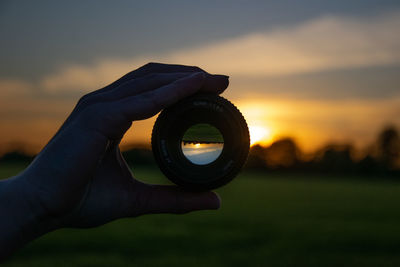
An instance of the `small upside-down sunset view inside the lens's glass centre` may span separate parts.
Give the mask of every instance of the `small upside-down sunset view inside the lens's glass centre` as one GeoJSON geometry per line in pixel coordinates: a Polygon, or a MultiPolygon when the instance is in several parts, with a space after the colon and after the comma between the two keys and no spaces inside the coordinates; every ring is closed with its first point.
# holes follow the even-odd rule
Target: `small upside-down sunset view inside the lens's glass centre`
{"type": "Polygon", "coordinates": [[[190,127],[182,137],[181,148],[185,157],[197,165],[215,161],[221,155],[224,138],[210,124],[200,123],[190,127]]]}

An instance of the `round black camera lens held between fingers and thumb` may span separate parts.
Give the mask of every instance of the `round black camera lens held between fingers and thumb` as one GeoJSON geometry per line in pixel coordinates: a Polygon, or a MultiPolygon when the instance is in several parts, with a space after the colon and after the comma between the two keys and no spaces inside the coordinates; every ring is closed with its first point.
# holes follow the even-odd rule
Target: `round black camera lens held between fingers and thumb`
{"type": "Polygon", "coordinates": [[[164,109],[152,133],[154,158],[165,176],[186,190],[210,190],[231,181],[250,147],[240,111],[214,94],[197,94],[164,109]]]}

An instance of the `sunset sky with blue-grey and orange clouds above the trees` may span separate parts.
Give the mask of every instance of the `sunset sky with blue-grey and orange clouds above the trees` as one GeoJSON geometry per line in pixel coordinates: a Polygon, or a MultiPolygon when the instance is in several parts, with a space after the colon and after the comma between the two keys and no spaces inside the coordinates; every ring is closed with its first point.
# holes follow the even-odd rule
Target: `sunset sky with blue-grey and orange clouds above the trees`
{"type": "MultiPolygon", "coordinates": [[[[230,76],[252,143],[363,148],[400,127],[399,1],[0,1],[0,153],[149,62],[230,76]]],[[[154,118],[123,144],[150,142],[154,118]]]]}

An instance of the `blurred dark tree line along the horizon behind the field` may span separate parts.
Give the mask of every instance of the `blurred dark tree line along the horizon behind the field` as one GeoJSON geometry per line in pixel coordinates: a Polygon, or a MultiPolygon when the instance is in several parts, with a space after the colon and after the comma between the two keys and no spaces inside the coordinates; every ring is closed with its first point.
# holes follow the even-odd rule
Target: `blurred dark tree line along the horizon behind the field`
{"type": "MultiPolygon", "coordinates": [[[[268,171],[295,171],[346,173],[362,175],[394,175],[400,178],[400,135],[394,126],[379,133],[376,141],[361,157],[351,144],[330,144],[312,155],[301,151],[293,138],[282,138],[269,146],[251,147],[245,169],[268,171]]],[[[149,148],[131,148],[123,152],[130,166],[155,165],[149,148]]],[[[10,162],[29,163],[34,156],[10,151],[0,157],[0,164],[10,162]]]]}

